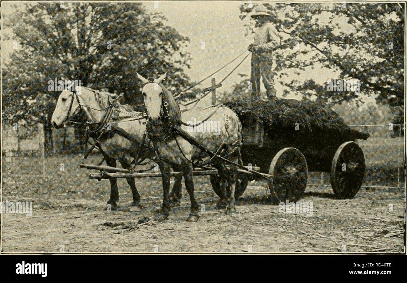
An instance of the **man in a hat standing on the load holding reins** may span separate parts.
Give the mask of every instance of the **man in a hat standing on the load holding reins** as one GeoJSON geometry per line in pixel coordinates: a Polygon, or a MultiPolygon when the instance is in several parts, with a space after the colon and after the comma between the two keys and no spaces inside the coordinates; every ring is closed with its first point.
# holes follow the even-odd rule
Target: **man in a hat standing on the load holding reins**
{"type": "Polygon", "coordinates": [[[260,96],[260,74],[263,78],[263,84],[269,101],[276,99],[276,89],[273,79],[273,54],[272,51],[279,45],[280,37],[276,28],[271,24],[271,15],[267,13],[264,6],[258,6],[252,18],[256,20],[256,34],[254,43],[247,48],[252,52],[252,73],[250,81],[252,82],[252,97],[260,96]]]}

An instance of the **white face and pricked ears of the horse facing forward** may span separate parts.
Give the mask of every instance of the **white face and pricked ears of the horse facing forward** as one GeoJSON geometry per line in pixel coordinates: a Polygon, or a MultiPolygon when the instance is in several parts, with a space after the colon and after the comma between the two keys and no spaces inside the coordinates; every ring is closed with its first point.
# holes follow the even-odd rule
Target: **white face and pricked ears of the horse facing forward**
{"type": "Polygon", "coordinates": [[[147,109],[147,115],[149,120],[156,120],[160,118],[161,106],[163,104],[163,99],[165,99],[165,93],[160,82],[165,78],[166,73],[164,73],[158,79],[146,79],[137,73],[137,77],[143,82],[143,98],[144,105],[147,109]]]}

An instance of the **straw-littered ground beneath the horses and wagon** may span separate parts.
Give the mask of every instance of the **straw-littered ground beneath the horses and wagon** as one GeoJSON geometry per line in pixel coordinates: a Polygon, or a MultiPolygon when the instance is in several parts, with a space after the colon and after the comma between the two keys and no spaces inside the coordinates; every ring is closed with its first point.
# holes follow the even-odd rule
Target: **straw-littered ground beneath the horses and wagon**
{"type": "MultiPolygon", "coordinates": [[[[195,195],[205,205],[196,223],[186,222],[189,197],[168,220],[157,222],[159,178],[136,179],[144,205],[129,211],[131,191],[119,180],[119,209],[107,211],[109,181],[89,180],[77,163],[47,177],[2,177],[2,200],[33,201],[33,215],[2,214],[4,252],[324,252],[403,253],[405,196],[397,189],[362,188],[354,199],[338,200],[329,187],[307,187],[301,201],[313,202],[313,215],[280,213],[268,203],[263,182],[249,183],[237,212],[214,210],[209,177],[195,177],[195,195]],[[72,169],[72,170],[71,170],[72,169]],[[74,170],[73,170],[74,169],[74,170]],[[51,177],[52,176],[52,177],[51,177]],[[390,207],[393,208],[391,211],[390,207]]],[[[55,169],[53,169],[55,167],[55,169]]],[[[50,169],[50,170],[51,170],[50,169]]]]}

